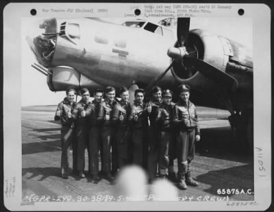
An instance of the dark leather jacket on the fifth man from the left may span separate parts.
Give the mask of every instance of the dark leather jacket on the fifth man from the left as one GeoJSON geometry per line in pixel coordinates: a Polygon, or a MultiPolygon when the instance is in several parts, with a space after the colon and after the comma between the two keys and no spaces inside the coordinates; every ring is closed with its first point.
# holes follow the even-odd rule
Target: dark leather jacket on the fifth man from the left
{"type": "Polygon", "coordinates": [[[123,99],[120,103],[115,104],[112,110],[112,123],[114,124],[114,126],[127,126],[130,110],[130,103],[123,101],[123,99]],[[120,115],[123,115],[123,121],[120,121],[120,115]]]}

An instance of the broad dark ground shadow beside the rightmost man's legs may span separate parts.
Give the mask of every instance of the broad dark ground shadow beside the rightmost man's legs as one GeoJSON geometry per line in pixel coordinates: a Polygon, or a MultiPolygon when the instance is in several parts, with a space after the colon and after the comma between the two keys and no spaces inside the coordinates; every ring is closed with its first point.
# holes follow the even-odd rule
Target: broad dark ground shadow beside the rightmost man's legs
{"type": "Polygon", "coordinates": [[[201,129],[201,141],[196,143],[196,153],[229,161],[252,163],[253,152],[236,141],[236,135],[229,127],[201,129]]]}

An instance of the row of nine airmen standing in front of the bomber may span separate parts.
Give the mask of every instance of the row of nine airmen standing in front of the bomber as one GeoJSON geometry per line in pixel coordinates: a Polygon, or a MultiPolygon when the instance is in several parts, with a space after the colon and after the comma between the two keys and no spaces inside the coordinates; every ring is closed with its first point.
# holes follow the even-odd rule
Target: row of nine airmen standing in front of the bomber
{"type": "Polygon", "coordinates": [[[197,186],[190,175],[190,162],[195,155],[195,141],[200,140],[195,105],[189,101],[190,86],[177,89],[179,101],[172,102],[173,92],[154,86],[152,99],[145,103],[145,91],[136,89],[134,104],[129,91],[108,86],[97,89],[90,102],[88,89],[81,89],[82,99],[76,103],[76,91],[66,90],[66,97],[55,113],[61,128],[61,174],[69,175],[69,150],[73,150],[73,172],[85,178],[85,149],[88,150],[88,174],[92,180],[114,180],[127,165],[138,165],[147,171],[149,181],[168,178],[179,189],[197,186]],[[103,99],[103,95],[104,99],[103,99]],[[99,154],[100,152],[100,154],[99,154]],[[99,172],[101,157],[101,172],[99,172]],[[174,160],[178,171],[175,174],[174,160]]]}

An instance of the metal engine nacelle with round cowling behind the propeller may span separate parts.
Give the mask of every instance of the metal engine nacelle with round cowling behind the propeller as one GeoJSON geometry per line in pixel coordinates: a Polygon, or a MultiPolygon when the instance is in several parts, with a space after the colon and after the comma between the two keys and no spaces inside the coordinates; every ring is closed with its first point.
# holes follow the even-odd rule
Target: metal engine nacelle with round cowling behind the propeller
{"type": "MultiPolygon", "coordinates": [[[[238,89],[250,90],[253,84],[253,62],[251,50],[247,47],[205,30],[191,30],[185,47],[191,56],[208,62],[235,78],[238,89]]],[[[215,82],[199,73],[199,70],[187,65],[184,67],[179,60],[175,61],[172,73],[179,83],[189,84],[196,90],[219,89],[215,82]]]]}

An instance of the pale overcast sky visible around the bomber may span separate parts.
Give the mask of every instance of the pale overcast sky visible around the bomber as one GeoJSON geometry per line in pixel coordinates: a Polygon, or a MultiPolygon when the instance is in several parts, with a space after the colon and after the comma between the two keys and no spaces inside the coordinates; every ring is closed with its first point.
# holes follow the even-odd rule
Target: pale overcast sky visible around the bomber
{"type": "MultiPolygon", "coordinates": [[[[161,18],[162,19],[162,18],[161,18]]],[[[160,21],[161,19],[153,19],[160,21]]],[[[126,19],[111,19],[115,23],[123,23],[126,19]]],[[[109,20],[108,20],[109,21],[109,20]]],[[[23,19],[21,28],[21,73],[22,73],[22,106],[53,105],[58,104],[64,96],[64,92],[53,93],[47,86],[47,77],[31,67],[36,62],[32,51],[29,49],[25,37],[32,26],[32,19],[23,19]]],[[[252,48],[252,21],[244,18],[205,18],[193,17],[190,19],[190,30],[201,28],[220,34],[242,45],[252,48]]]]}

